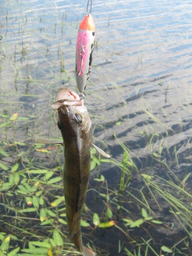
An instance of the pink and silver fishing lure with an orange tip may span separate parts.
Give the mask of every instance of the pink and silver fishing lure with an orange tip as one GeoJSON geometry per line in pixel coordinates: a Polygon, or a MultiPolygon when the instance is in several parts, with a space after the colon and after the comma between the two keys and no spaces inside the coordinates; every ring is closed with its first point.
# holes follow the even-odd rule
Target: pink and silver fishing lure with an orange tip
{"type": "Polygon", "coordinates": [[[79,92],[83,93],[91,72],[95,40],[95,24],[91,14],[87,14],[79,26],[76,45],[76,81],[79,92]]]}

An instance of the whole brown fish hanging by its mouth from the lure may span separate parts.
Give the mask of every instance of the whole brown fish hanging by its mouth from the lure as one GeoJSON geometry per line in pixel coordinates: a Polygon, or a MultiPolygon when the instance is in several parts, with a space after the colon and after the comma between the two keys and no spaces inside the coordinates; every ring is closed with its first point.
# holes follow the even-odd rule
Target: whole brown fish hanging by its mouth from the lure
{"type": "MultiPolygon", "coordinates": [[[[95,256],[93,251],[83,246],[81,234],[82,209],[91,168],[91,120],[83,99],[67,88],[58,91],[56,101],[51,107],[58,111],[58,128],[61,130],[63,141],[44,138],[36,140],[45,144],[63,144],[63,186],[69,237],[83,256],[95,256]]],[[[104,157],[110,157],[103,150],[93,146],[104,157]]]]}

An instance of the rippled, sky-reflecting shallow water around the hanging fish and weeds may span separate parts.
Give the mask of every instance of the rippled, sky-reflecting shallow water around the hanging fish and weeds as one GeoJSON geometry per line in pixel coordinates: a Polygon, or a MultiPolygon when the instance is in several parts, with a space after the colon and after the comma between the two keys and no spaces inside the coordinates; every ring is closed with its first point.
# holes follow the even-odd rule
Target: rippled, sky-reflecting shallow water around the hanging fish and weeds
{"type": "MultiPolygon", "coordinates": [[[[1,1],[0,113],[19,113],[17,122],[8,129],[1,126],[6,122],[1,117],[1,141],[28,140],[34,135],[55,137],[50,103],[60,87],[76,90],[77,30],[85,14],[86,3],[82,0],[1,1]]],[[[98,0],[91,14],[96,24],[96,45],[85,104],[96,144],[98,139],[105,140],[110,154],[120,161],[123,150],[115,134],[131,151],[141,174],[167,179],[167,169],[153,159],[161,148],[161,159],[173,168],[173,176],[183,180],[192,171],[192,2],[98,0]]],[[[39,153],[32,154],[40,158],[39,153]]],[[[15,159],[6,160],[12,164],[15,159]]],[[[47,165],[44,163],[43,168],[47,165]]],[[[103,164],[101,173],[110,189],[118,189],[117,168],[103,164]]],[[[91,180],[91,188],[96,186],[91,180]]],[[[128,191],[137,195],[134,189],[143,187],[141,176],[133,174],[128,191]]],[[[192,176],[187,179],[187,187],[192,187],[192,176]]],[[[96,189],[102,192],[104,188],[96,189]]],[[[101,213],[100,204],[92,202],[98,195],[91,191],[86,203],[92,212],[98,209],[101,213]]],[[[133,199],[126,193],[123,196],[128,201],[133,199]]],[[[130,216],[139,214],[136,206],[123,203],[125,198],[122,204],[130,207],[130,216]]],[[[173,217],[169,205],[159,200],[159,215],[169,223],[173,217]]],[[[153,199],[149,201],[158,215],[153,199]]],[[[127,213],[121,212],[120,216],[126,217],[127,213]]],[[[129,239],[117,232],[112,227],[97,229],[91,239],[96,238],[95,245],[107,251],[104,255],[123,255],[123,250],[117,252],[119,241],[129,248],[129,239]]],[[[172,230],[160,227],[152,234],[157,236],[156,232],[166,246],[174,244],[173,234],[178,240],[186,236],[178,222],[172,230]]],[[[145,236],[144,229],[135,231],[135,239],[145,236]]]]}

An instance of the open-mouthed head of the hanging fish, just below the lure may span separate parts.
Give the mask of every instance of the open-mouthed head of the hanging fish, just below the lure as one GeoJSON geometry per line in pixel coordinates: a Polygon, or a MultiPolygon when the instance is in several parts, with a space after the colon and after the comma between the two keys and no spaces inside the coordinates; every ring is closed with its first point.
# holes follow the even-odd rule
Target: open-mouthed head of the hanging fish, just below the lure
{"type": "Polygon", "coordinates": [[[84,100],[76,92],[68,88],[61,88],[56,101],[51,104],[53,110],[58,111],[58,127],[64,130],[79,130],[83,133],[91,132],[91,119],[84,100]]]}

